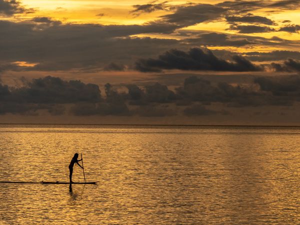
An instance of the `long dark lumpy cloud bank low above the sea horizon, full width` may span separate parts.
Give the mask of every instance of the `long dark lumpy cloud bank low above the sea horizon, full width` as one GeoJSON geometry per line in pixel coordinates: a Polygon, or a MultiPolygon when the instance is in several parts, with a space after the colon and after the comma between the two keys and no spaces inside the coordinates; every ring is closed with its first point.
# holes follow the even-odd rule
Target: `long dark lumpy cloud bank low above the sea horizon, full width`
{"type": "Polygon", "coordinates": [[[190,76],[174,90],[160,83],[127,84],[126,88],[119,92],[106,83],[101,94],[96,84],[52,76],[32,79],[18,88],[0,84],[0,114],[37,115],[46,110],[51,115],[77,116],[226,115],[230,107],[292,105],[300,100],[300,75],[257,76],[247,86],[190,76]],[[223,106],[210,109],[213,103],[223,106]]]}

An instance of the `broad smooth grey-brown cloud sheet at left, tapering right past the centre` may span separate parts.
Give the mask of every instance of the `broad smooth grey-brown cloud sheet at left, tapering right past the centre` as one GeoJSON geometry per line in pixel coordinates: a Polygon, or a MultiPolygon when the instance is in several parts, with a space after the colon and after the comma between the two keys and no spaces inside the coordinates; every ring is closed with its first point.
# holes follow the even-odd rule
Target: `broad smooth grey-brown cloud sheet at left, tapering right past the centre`
{"type": "MultiPolygon", "coordinates": [[[[48,21],[43,18],[38,21],[48,21]]],[[[156,55],[161,50],[182,45],[175,39],[138,38],[127,35],[171,31],[176,25],[47,25],[35,22],[0,20],[0,64],[6,70],[101,70],[111,61],[132,63],[132,59],[156,55]],[[19,37],[22,38],[19,38],[19,37]],[[45,40],[45,36],[47,39],[45,40]],[[121,37],[121,38],[118,38],[121,37]],[[82,41],[84,40],[84,41],[82,41]],[[46,42],[45,42],[46,41],[46,42]],[[118,55],[116,57],[116,55],[118,55]],[[11,65],[15,61],[36,63],[31,67],[11,65]],[[5,65],[5,66],[4,66],[5,65]]]]}

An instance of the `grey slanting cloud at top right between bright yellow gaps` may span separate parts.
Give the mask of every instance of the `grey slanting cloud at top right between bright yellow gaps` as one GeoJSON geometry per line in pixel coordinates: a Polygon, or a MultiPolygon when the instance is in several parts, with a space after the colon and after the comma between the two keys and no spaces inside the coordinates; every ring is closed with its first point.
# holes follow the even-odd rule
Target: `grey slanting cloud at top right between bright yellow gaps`
{"type": "MultiPolygon", "coordinates": [[[[264,16],[253,15],[248,13],[242,16],[235,16],[236,14],[244,14],[260,8],[274,8],[274,9],[290,9],[294,10],[300,5],[298,0],[281,0],[270,3],[265,0],[237,0],[237,1],[223,1],[217,4],[194,4],[189,3],[185,5],[176,5],[173,13],[160,16],[162,21],[168,23],[175,23],[182,27],[194,25],[200,22],[207,22],[216,19],[221,19],[225,16],[230,23],[233,22],[247,22],[247,23],[262,23],[272,25],[274,22],[264,16]]],[[[136,10],[150,12],[153,10],[163,10],[165,6],[154,3],[136,5],[136,10]],[[155,8],[155,6],[157,8],[155,8]]]]}

